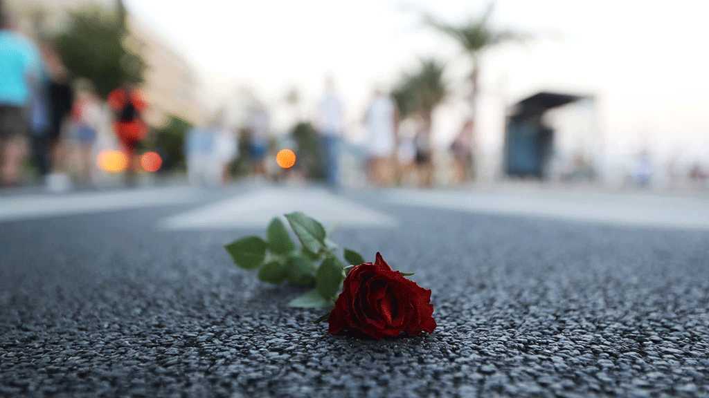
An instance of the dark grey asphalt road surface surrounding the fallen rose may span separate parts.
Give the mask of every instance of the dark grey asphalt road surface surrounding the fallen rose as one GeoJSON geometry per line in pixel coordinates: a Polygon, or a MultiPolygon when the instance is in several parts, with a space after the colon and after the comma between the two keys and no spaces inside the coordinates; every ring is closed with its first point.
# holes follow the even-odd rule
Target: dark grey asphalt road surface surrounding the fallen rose
{"type": "Polygon", "coordinates": [[[0,397],[709,396],[709,229],[411,194],[0,198],[0,397]],[[415,271],[435,332],[330,336],[286,307],[301,290],[235,268],[223,244],[290,207],[415,271]]]}

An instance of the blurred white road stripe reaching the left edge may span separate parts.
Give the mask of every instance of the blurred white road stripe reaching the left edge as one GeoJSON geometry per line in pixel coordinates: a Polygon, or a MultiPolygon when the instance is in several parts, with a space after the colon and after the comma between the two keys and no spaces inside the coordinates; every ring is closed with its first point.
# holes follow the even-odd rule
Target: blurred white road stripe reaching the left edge
{"type": "Polygon", "coordinates": [[[31,194],[0,198],[0,222],[58,215],[123,210],[135,207],[191,203],[199,191],[189,187],[147,188],[126,191],[31,194]]]}

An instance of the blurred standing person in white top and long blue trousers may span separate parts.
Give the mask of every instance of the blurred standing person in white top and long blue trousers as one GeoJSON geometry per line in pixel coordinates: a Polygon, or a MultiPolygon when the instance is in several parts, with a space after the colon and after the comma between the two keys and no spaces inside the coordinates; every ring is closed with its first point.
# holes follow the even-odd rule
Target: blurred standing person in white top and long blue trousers
{"type": "Polygon", "coordinates": [[[337,188],[340,186],[340,145],[345,123],[342,101],[335,92],[333,79],[330,78],[325,81],[325,95],[318,104],[316,126],[325,155],[325,180],[329,186],[337,188]]]}

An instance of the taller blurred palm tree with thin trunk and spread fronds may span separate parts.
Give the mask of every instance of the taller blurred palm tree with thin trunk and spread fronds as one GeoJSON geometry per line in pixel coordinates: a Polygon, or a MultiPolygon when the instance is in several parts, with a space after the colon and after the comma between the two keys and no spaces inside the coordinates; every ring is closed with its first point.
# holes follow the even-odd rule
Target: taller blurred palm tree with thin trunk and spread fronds
{"type": "Polygon", "coordinates": [[[481,53],[494,45],[520,38],[518,33],[513,33],[508,30],[496,30],[490,26],[490,17],[493,8],[493,4],[489,4],[482,16],[472,18],[467,23],[460,25],[444,23],[432,16],[426,17],[426,21],[429,25],[456,40],[471,59],[472,67],[469,79],[471,85],[471,118],[473,119],[475,116],[476,99],[479,94],[478,76],[480,72],[479,59],[481,53]]]}

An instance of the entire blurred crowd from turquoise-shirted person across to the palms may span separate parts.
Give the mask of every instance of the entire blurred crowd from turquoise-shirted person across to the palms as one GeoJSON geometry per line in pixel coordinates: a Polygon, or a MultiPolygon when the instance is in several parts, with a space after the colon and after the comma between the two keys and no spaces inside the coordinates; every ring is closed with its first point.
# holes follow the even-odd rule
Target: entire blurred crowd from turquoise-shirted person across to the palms
{"type": "MultiPolygon", "coordinates": [[[[67,191],[94,186],[101,173],[122,174],[133,185],[138,172],[160,170],[162,161],[161,171],[184,167],[187,179],[200,185],[254,176],[322,180],[339,187],[343,169],[362,171],[363,179],[376,186],[433,184],[430,115],[401,113],[396,98],[384,90],[373,91],[362,118],[363,145],[345,137],[345,104],[332,79],[311,120],[297,120],[286,134],[274,132],[269,109],[254,101],[242,125],[228,125],[220,112],[208,123],[178,129],[176,145],[174,137],[169,142],[156,138],[156,127],[145,120],[149,104],[138,86],[121,83],[101,95],[95,76],[92,81],[67,67],[54,41],[23,35],[8,13],[0,9],[0,15],[1,186],[33,182],[67,191]],[[150,152],[160,160],[157,167],[143,164],[148,147],[157,150],[150,152]],[[287,171],[274,161],[286,148],[297,157],[287,171]],[[343,168],[347,154],[354,154],[356,164],[343,168]]],[[[78,52],[88,54],[89,49],[78,52]]],[[[472,142],[469,121],[450,148],[457,181],[471,175],[472,142]]]]}

